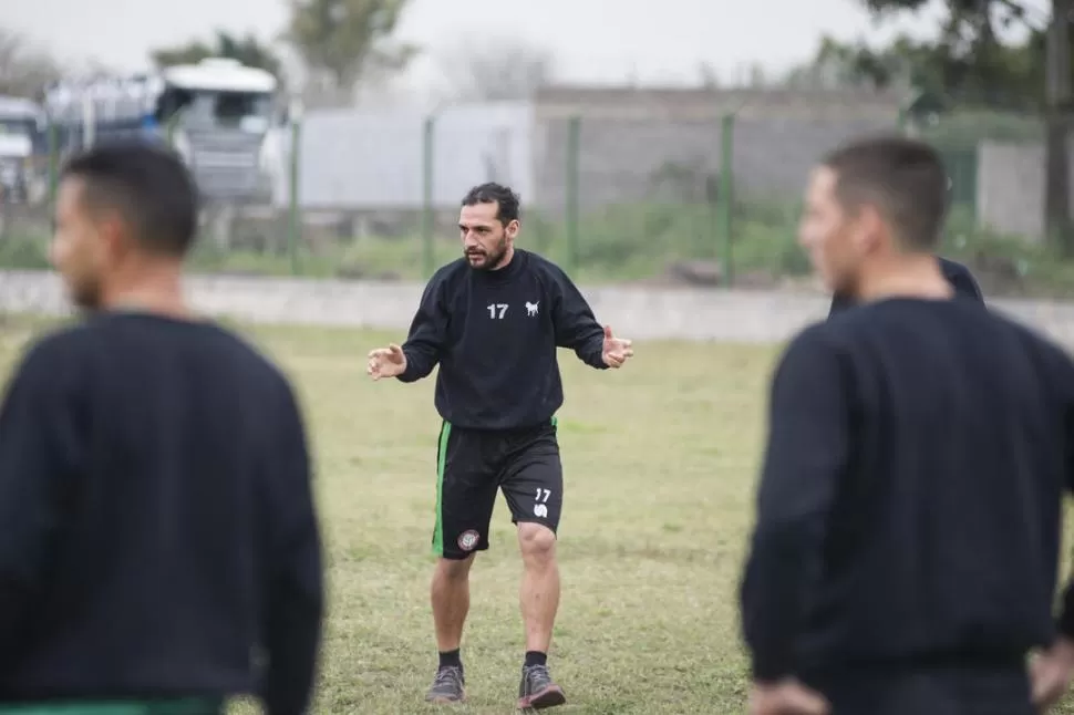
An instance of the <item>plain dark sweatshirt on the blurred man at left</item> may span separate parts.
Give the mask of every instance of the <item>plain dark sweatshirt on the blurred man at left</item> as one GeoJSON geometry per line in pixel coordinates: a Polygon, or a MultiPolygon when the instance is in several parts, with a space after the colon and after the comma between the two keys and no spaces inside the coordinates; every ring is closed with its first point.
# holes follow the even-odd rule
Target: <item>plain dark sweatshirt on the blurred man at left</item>
{"type": "Polygon", "coordinates": [[[322,567],[304,428],[233,334],[106,313],[38,342],[0,408],[0,703],[306,711],[322,567]]]}

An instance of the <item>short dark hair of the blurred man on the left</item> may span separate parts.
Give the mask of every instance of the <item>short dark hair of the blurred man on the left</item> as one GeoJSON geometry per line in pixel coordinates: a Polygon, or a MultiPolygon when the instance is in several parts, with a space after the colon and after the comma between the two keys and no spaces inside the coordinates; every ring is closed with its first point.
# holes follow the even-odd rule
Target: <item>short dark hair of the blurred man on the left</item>
{"type": "Polygon", "coordinates": [[[197,187],[183,159],[165,146],[101,144],[69,160],[61,178],[81,179],[86,208],[118,213],[148,252],[182,258],[194,243],[197,187]]]}

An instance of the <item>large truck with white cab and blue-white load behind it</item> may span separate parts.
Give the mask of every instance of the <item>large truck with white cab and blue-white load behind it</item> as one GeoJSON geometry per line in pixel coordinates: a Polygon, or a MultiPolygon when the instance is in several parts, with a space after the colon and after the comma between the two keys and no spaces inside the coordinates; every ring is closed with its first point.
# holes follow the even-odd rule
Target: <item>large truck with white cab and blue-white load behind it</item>
{"type": "Polygon", "coordinates": [[[209,58],[59,83],[47,91],[44,110],[61,155],[124,136],[168,142],[207,203],[259,205],[272,195],[266,136],[279,112],[277,91],[265,70],[209,58]]]}

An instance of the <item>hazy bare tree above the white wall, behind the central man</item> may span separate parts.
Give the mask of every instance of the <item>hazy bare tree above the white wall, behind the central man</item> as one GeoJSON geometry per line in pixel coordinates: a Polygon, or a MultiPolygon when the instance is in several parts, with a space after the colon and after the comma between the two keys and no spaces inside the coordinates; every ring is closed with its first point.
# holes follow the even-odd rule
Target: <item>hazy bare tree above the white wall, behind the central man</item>
{"type": "Polygon", "coordinates": [[[454,99],[493,102],[531,96],[553,79],[555,69],[546,50],[509,39],[482,50],[462,46],[441,66],[454,99]]]}

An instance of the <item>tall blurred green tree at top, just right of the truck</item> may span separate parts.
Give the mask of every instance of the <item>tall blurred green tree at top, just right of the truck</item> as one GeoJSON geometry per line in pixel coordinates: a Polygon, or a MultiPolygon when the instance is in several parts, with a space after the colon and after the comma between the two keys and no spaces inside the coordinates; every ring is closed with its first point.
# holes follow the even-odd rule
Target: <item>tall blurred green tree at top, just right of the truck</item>
{"type": "Polygon", "coordinates": [[[392,42],[406,0],[290,0],[288,42],[312,77],[351,90],[376,72],[395,72],[416,54],[392,42]]]}

